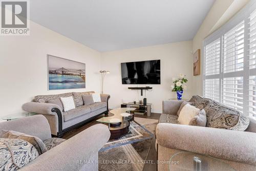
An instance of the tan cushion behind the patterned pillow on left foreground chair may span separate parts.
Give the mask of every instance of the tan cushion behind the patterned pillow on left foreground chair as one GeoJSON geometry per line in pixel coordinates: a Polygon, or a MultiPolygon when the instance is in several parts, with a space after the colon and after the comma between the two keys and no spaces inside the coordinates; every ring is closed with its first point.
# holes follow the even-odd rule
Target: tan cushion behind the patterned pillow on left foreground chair
{"type": "Polygon", "coordinates": [[[25,141],[28,141],[36,148],[39,155],[47,152],[46,145],[38,137],[8,130],[2,130],[2,135],[2,138],[23,139],[25,141]]]}

